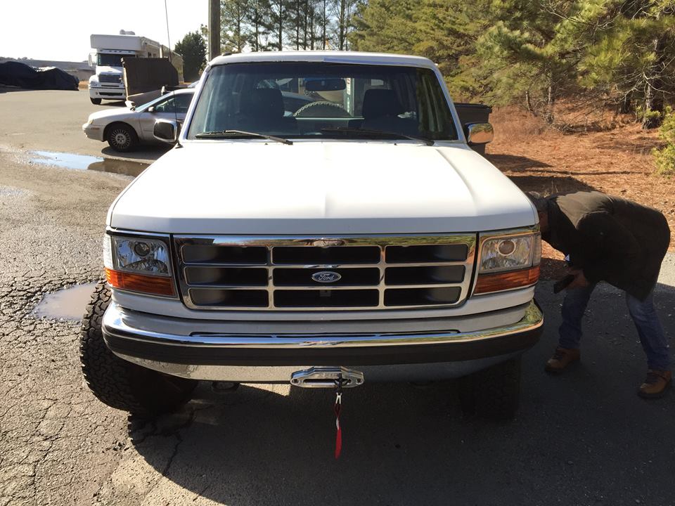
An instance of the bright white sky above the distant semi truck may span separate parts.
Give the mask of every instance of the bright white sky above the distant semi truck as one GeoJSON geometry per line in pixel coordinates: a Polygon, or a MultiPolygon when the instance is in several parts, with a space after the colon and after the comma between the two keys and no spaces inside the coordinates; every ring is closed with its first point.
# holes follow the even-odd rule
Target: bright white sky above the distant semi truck
{"type": "MultiPolygon", "coordinates": [[[[132,30],[167,44],[165,0],[0,0],[0,56],[86,60],[89,35],[132,30]]],[[[171,48],[208,21],[208,0],[166,0],[171,48]]]]}

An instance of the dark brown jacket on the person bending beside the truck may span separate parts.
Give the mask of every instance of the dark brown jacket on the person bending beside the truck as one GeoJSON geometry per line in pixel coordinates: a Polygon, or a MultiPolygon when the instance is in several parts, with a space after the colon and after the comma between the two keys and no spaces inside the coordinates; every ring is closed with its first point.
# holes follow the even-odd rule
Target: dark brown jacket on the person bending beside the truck
{"type": "Polygon", "coordinates": [[[569,254],[591,283],[606,281],[641,300],[656,285],[670,244],[663,214],[596,191],[552,197],[548,227],[544,240],[569,254]]]}

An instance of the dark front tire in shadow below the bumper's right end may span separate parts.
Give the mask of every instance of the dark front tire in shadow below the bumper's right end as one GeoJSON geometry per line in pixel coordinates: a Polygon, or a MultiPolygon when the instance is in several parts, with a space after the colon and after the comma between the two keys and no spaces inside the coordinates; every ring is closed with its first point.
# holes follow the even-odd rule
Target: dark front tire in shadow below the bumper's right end
{"type": "Polygon", "coordinates": [[[512,419],[520,404],[520,357],[460,378],[459,400],[466,415],[512,419]]]}

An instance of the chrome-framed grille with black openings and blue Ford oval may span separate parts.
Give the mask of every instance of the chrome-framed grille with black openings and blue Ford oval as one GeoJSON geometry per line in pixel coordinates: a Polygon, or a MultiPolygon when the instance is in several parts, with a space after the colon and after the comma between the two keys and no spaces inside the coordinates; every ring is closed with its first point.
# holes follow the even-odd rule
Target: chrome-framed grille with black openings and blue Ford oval
{"type": "Polygon", "coordinates": [[[420,309],[464,301],[476,235],[200,235],[174,244],[191,309],[420,309]]]}

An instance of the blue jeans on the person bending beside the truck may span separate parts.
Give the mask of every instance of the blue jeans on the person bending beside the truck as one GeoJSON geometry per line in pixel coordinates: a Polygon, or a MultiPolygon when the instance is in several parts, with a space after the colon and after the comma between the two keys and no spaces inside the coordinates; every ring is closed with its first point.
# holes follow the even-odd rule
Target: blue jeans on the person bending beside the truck
{"type": "MultiPolygon", "coordinates": [[[[579,348],[581,343],[581,317],[584,316],[591,294],[596,285],[572,288],[563,300],[563,323],[560,325],[560,347],[579,348]]],[[[642,348],[647,355],[650,369],[670,370],[668,340],[663,332],[654,307],[654,294],[641,301],[626,293],[626,304],[640,336],[642,348]]]]}

